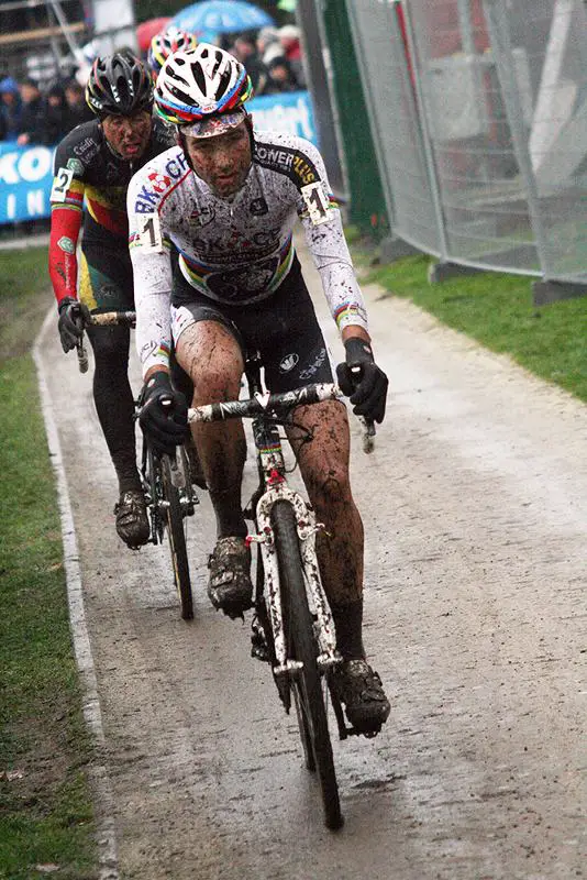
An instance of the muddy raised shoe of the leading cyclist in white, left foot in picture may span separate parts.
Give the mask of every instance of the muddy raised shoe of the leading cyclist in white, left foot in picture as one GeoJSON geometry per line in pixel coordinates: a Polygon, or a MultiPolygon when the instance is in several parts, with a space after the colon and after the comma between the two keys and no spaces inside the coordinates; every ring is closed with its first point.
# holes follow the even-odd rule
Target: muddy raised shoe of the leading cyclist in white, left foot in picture
{"type": "Polygon", "coordinates": [[[244,538],[219,538],[208,561],[208,595],[214,608],[242,617],[253,605],[251,550],[244,538]]]}

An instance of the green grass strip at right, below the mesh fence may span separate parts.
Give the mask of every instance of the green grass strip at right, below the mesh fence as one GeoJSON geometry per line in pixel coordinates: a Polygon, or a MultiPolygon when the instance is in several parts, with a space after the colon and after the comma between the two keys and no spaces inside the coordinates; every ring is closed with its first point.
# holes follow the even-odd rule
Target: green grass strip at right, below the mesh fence
{"type": "Polygon", "coordinates": [[[587,402],[587,297],[536,308],[530,279],[518,275],[479,272],[429,284],[429,256],[367,267],[367,251],[353,249],[353,254],[364,267],[363,284],[376,283],[411,299],[448,327],[587,402]]]}

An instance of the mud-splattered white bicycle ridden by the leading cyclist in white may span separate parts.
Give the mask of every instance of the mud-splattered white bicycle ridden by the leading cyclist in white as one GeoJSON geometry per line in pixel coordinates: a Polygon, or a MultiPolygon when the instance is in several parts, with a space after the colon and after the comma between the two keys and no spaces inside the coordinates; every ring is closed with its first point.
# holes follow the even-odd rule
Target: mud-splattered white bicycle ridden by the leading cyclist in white
{"type": "MultiPolygon", "coordinates": [[[[306,766],[319,779],[326,827],[336,829],[344,820],[329,733],[329,704],[341,739],[357,732],[346,726],[331,685],[331,673],[342,657],[336,650],[315,554],[315,535],[323,526],[302,495],[288,485],[279,428],[295,426],[296,407],[339,399],[342,393],[334,384],[313,384],[268,394],[258,356],[247,359],[245,374],[250,399],[200,406],[188,411],[188,419],[252,419],[259,480],[244,512],[254,524],[247,541],[257,547],[252,654],[270,664],[286,712],[296,710],[306,766]]],[[[310,432],[306,435],[306,441],[310,441],[310,432]]],[[[369,426],[366,449],[372,448],[373,435],[369,426]]]]}

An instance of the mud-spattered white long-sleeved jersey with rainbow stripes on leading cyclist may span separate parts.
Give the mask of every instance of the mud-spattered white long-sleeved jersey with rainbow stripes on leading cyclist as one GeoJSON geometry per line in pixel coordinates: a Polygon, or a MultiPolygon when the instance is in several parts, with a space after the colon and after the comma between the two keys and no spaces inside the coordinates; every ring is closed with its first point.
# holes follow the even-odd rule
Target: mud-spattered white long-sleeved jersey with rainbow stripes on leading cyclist
{"type": "Polygon", "coordinates": [[[365,305],[322,157],[309,141],[255,132],[253,162],[235,196],[219,198],[171,147],[144,165],[128,191],[130,252],[143,374],[167,365],[171,345],[171,243],[195,290],[217,302],[270,296],[295,256],[297,217],[340,330],[367,329],[365,305]]]}

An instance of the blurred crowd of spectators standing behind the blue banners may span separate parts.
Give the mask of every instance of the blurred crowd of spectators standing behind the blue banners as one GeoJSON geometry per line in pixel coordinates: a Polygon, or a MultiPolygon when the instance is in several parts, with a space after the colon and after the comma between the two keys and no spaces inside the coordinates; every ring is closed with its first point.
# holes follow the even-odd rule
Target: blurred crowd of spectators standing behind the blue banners
{"type": "MultiPolygon", "coordinates": [[[[300,32],[295,25],[264,28],[218,42],[244,64],[256,96],[306,88],[300,32]]],[[[35,79],[0,79],[0,141],[52,146],[90,119],[93,114],[77,79],[55,80],[45,89],[35,79]]]]}

